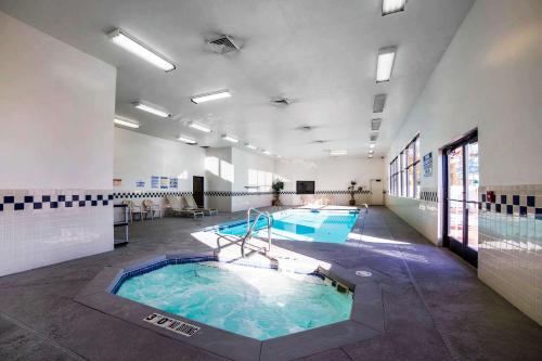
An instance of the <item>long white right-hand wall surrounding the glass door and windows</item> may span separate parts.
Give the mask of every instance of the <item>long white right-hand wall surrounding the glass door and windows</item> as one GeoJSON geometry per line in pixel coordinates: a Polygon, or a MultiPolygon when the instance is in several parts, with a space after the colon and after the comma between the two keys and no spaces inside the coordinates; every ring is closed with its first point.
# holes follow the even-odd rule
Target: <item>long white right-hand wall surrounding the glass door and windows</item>
{"type": "MultiPolygon", "coordinates": [[[[398,132],[388,160],[417,132],[421,133],[422,154],[433,152],[436,160],[440,147],[478,128],[480,182],[487,190],[542,184],[541,43],[540,0],[477,0],[398,132]]],[[[424,178],[423,188],[437,189],[440,184],[439,168],[436,164],[434,167],[435,176],[424,178]]],[[[537,199],[542,196],[531,195],[537,199]]],[[[393,198],[388,197],[389,207],[398,215],[420,230],[430,228],[429,222],[435,218],[420,211],[420,202],[393,198]]],[[[535,229],[538,232],[539,228],[535,229]]],[[[430,237],[434,241],[438,237],[435,231],[430,237]]],[[[480,278],[541,322],[542,260],[535,257],[533,266],[533,255],[521,252],[529,249],[531,240],[519,237],[515,245],[507,245],[490,256],[485,246],[489,247],[490,242],[480,238],[480,278]],[[514,257],[511,258],[509,253],[514,257]],[[517,272],[494,267],[511,261],[518,269],[533,266],[528,270],[531,276],[514,281],[511,278],[517,272]],[[533,280],[539,280],[538,285],[533,280]],[[507,286],[518,282],[522,284],[520,288],[507,286]],[[518,302],[518,298],[525,302],[518,302]]],[[[542,246],[541,238],[540,235],[534,237],[538,240],[534,248],[542,246]]]]}

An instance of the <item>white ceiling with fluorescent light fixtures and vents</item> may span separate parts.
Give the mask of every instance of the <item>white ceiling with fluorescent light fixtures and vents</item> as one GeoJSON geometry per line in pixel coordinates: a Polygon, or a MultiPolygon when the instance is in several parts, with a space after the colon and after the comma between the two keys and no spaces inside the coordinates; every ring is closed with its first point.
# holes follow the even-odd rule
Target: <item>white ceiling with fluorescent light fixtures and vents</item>
{"type": "Polygon", "coordinates": [[[382,16],[380,1],[0,0],[0,10],[117,66],[116,113],[138,120],[137,131],[171,140],[183,133],[210,146],[230,145],[220,138],[229,133],[284,157],[317,158],[339,149],[367,154],[377,93],[388,94],[376,146],[384,155],[474,2],[409,0],[404,12],[382,16]],[[105,35],[113,27],[177,69],[164,73],[116,47],[105,35]],[[242,51],[212,53],[205,40],[220,34],[232,35],[242,51]],[[398,47],[393,74],[377,85],[376,54],[387,46],[398,47]],[[220,89],[233,98],[190,101],[220,89]],[[295,102],[278,107],[269,103],[275,96],[295,102]],[[173,118],[133,108],[138,100],[173,118]],[[214,132],[193,130],[190,120],[214,132]]]}

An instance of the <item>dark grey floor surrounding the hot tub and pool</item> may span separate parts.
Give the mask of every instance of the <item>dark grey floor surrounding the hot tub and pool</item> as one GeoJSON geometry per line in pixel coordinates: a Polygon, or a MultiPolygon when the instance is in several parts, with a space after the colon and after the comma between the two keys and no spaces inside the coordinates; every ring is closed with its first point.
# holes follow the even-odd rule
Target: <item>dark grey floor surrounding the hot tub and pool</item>
{"type": "MultiPolygon", "coordinates": [[[[0,360],[223,360],[73,300],[100,270],[166,250],[208,250],[190,233],[242,218],[165,218],[131,227],[114,252],[0,278],[0,360]]],[[[371,269],[384,291],[383,335],[306,360],[541,360],[542,327],[384,207],[364,234],[401,244],[282,242],[349,269],[371,269]]]]}

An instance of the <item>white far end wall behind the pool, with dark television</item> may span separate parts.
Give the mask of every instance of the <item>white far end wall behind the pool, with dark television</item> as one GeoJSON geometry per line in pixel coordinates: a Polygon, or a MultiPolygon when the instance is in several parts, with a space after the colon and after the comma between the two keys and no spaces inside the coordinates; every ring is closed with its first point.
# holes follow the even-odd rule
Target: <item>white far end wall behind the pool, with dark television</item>
{"type": "MultiPolygon", "coordinates": [[[[295,191],[296,181],[315,181],[317,191],[346,191],[351,180],[364,190],[370,190],[371,179],[385,179],[384,160],[364,157],[334,157],[315,160],[278,160],[275,172],[284,178],[285,191],[295,191]]],[[[300,195],[283,195],[282,202],[289,205],[301,203],[300,195]]],[[[349,195],[330,196],[334,204],[347,204],[349,195]]],[[[359,202],[370,202],[369,196],[357,196],[359,202]]]]}

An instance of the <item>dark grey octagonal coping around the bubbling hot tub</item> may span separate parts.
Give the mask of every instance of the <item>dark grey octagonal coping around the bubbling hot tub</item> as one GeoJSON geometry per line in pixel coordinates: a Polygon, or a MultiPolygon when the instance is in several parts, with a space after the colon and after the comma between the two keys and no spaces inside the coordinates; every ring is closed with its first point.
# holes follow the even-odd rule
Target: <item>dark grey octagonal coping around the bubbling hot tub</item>
{"type": "Polygon", "coordinates": [[[233,360],[289,360],[369,339],[384,333],[384,308],[380,285],[371,279],[356,278],[352,270],[332,265],[319,272],[343,283],[353,293],[350,319],[299,333],[258,340],[119,297],[112,293],[126,272],[168,259],[212,258],[214,252],[170,252],[113,267],[105,267],[75,297],[75,301],[111,317],[130,322],[162,336],[189,344],[233,360]],[[362,292],[356,292],[356,287],[362,292]],[[199,327],[191,337],[145,322],[152,313],[183,321],[199,327]]]}

